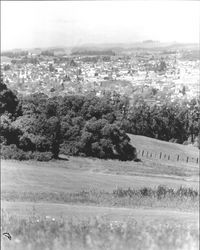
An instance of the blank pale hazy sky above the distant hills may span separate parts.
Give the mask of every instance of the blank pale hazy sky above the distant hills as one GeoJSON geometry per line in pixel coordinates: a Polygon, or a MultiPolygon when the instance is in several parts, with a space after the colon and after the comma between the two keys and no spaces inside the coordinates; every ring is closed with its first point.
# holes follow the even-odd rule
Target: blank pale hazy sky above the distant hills
{"type": "Polygon", "coordinates": [[[1,2],[1,49],[131,43],[199,43],[198,1],[1,2]]]}

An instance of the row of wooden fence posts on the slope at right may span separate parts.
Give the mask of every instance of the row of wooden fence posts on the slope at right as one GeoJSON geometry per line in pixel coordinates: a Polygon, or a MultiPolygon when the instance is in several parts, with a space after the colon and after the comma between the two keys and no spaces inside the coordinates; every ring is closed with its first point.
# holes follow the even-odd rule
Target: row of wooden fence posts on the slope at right
{"type": "Polygon", "coordinates": [[[181,161],[186,163],[195,163],[199,164],[199,157],[190,157],[187,155],[181,154],[167,154],[165,152],[152,152],[144,149],[137,150],[138,157],[145,157],[145,158],[154,158],[154,159],[161,159],[166,161],[181,161]]]}

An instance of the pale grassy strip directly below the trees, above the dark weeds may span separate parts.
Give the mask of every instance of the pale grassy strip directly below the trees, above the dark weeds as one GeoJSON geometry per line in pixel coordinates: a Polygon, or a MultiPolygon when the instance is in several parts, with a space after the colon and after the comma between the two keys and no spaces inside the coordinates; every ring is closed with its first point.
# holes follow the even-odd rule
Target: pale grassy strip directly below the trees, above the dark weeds
{"type": "Polygon", "coordinates": [[[2,192],[24,190],[31,192],[77,192],[97,188],[112,191],[116,187],[169,187],[198,188],[198,167],[170,166],[162,175],[164,166],[145,166],[143,163],[101,161],[70,157],[69,161],[18,162],[1,161],[2,192]],[[147,173],[145,173],[147,172],[147,173]]]}

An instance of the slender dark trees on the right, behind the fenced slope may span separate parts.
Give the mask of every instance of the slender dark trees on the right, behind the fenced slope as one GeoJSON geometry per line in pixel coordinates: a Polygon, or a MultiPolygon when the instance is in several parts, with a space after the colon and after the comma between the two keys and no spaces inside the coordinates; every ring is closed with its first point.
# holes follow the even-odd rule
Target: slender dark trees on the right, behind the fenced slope
{"type": "Polygon", "coordinates": [[[200,100],[147,105],[134,103],[122,127],[127,133],[199,146],[200,100]]]}

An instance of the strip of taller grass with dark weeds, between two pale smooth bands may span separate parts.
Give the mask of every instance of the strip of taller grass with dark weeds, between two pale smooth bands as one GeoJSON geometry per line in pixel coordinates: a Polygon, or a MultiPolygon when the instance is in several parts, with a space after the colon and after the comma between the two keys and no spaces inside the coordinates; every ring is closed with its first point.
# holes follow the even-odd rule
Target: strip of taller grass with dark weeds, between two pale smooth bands
{"type": "Polygon", "coordinates": [[[198,210],[199,192],[192,188],[117,188],[112,192],[97,189],[80,192],[2,192],[5,201],[53,202],[111,207],[153,207],[180,210],[198,210]]]}

